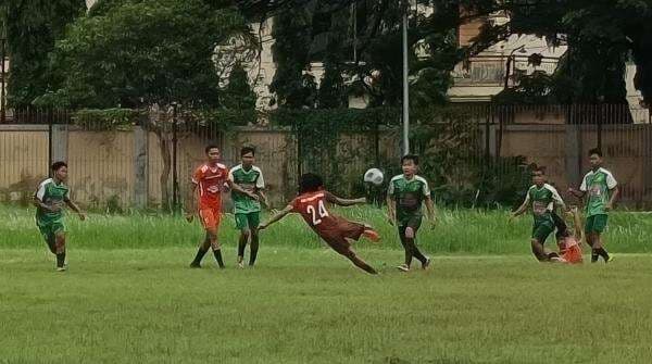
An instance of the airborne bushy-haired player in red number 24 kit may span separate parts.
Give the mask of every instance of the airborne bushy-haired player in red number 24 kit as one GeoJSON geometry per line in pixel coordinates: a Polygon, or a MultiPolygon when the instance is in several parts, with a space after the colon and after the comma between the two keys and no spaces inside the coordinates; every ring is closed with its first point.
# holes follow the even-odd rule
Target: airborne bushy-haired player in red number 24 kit
{"type": "Polygon", "coordinates": [[[362,224],[352,223],[344,218],[335,216],[326,210],[326,202],[340,206],[351,206],[366,203],[365,198],[347,200],[341,199],[324,189],[322,177],[308,173],[299,180],[299,196],[293,199],[283,211],[274,215],[267,223],[260,226],[260,230],[278,222],[287,214],[293,212],[301,214],[305,223],[336,252],[348,258],[355,266],[371,274],[377,274],[351,249],[352,240],[361,236],[378,241],[378,233],[362,224]]]}

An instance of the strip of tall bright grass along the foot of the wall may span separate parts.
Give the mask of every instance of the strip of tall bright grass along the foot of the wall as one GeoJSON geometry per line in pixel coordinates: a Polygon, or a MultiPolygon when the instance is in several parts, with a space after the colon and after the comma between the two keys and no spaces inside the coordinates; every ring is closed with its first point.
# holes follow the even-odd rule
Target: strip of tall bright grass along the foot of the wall
{"type": "MultiPolygon", "coordinates": [[[[396,229],[387,224],[385,211],[372,208],[339,209],[337,214],[368,223],[383,236],[380,249],[400,249],[396,229]]],[[[0,248],[41,247],[35,227],[34,211],[0,206],[2,231],[0,248]]],[[[436,229],[424,226],[418,243],[436,254],[525,254],[529,252],[531,217],[523,216],[514,223],[504,211],[444,210],[439,213],[436,229]]],[[[610,250],[627,253],[652,253],[652,214],[617,212],[610,215],[604,239],[610,250]]],[[[199,222],[188,224],[181,217],[134,213],[106,216],[91,214],[86,222],[68,216],[70,243],[74,248],[193,248],[202,239],[199,222]]],[[[223,218],[220,238],[234,246],[237,230],[233,215],[223,218]]],[[[322,242],[297,215],[291,215],[263,233],[265,246],[318,248],[322,242]]],[[[553,239],[549,239],[553,243],[553,239]]],[[[366,242],[362,247],[369,246],[366,242]]]]}

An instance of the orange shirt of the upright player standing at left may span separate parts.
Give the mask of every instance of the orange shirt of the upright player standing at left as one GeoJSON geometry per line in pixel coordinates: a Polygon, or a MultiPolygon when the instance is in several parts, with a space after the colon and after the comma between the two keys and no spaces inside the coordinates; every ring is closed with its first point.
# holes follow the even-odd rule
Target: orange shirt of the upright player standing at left
{"type": "Polygon", "coordinates": [[[199,189],[199,209],[215,209],[222,205],[222,190],[228,178],[228,168],[217,163],[215,167],[209,164],[199,166],[192,174],[192,183],[199,189]]]}

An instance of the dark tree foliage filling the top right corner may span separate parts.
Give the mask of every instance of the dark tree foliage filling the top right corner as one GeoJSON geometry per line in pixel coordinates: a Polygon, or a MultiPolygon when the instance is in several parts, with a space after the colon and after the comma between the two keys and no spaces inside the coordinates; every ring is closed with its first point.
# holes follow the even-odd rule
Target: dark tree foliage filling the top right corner
{"type": "Polygon", "coordinates": [[[541,99],[537,89],[523,89],[521,93],[535,92],[526,99],[531,96],[543,102],[625,103],[625,63],[631,57],[637,65],[635,85],[650,103],[652,1],[577,0],[556,5],[504,2],[501,8],[512,15],[510,26],[486,27],[480,37],[484,42],[528,33],[547,36],[552,45],[566,42],[569,47],[547,87],[551,98],[541,99]]]}

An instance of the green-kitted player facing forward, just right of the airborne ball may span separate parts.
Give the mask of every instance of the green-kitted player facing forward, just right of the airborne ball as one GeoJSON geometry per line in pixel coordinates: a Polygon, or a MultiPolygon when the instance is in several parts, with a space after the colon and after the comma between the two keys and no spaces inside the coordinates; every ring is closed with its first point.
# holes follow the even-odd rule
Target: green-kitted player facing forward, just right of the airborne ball
{"type": "Polygon", "coordinates": [[[403,174],[394,176],[389,181],[387,190],[387,208],[389,223],[399,228],[399,238],[405,250],[405,262],[398,266],[402,272],[409,272],[412,258],[422,263],[422,268],[430,265],[430,259],[416,247],[416,233],[422,224],[422,204],[426,203],[428,219],[435,226],[435,205],[430,198],[428,183],[418,171],[418,155],[408,154],[401,159],[403,174]]]}

